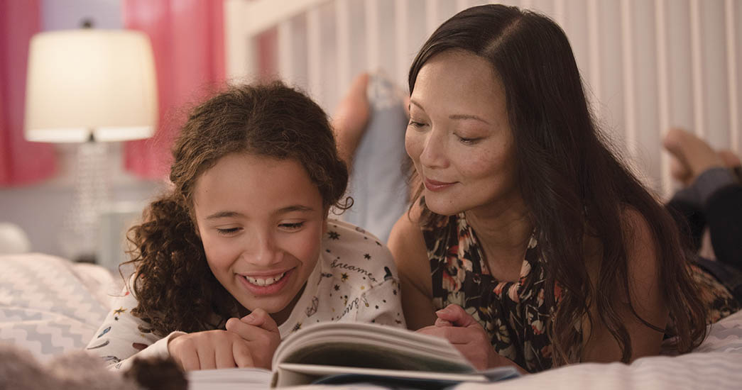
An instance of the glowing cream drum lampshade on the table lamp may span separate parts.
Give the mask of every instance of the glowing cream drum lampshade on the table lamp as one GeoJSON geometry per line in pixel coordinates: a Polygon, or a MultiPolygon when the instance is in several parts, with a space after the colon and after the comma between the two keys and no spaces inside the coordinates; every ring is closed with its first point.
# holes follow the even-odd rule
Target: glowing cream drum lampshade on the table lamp
{"type": "Polygon", "coordinates": [[[142,139],[152,136],[156,123],[154,59],[144,33],[88,28],[33,36],[26,139],[142,139]]]}

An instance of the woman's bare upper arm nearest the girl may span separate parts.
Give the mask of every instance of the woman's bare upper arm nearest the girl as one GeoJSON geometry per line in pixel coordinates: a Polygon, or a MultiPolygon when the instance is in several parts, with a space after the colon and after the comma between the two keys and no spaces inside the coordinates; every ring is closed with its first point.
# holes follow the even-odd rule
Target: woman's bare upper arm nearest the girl
{"type": "MultiPolygon", "coordinates": [[[[416,211],[410,213],[416,215],[416,211]]],[[[430,260],[415,217],[405,213],[392,228],[389,248],[397,264],[401,283],[402,310],[407,328],[417,330],[436,322],[430,260]]]]}

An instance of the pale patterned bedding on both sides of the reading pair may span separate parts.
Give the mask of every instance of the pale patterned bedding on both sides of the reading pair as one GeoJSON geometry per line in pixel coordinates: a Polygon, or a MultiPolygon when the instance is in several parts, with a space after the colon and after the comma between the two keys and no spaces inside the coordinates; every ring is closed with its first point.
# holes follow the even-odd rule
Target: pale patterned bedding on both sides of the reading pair
{"type": "MultiPolygon", "coordinates": [[[[0,256],[0,343],[39,360],[81,349],[93,337],[121,278],[102,267],[44,254],[0,256]]],[[[692,354],[645,357],[630,365],[585,363],[462,390],[742,389],[742,312],[712,325],[692,354]]]]}

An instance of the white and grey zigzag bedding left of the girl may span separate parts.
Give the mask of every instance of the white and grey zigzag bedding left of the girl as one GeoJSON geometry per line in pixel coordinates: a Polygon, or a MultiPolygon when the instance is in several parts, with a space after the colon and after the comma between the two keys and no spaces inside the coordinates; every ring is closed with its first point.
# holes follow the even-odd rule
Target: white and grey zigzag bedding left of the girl
{"type": "Polygon", "coordinates": [[[45,254],[0,256],[0,343],[37,359],[81,349],[119,294],[121,277],[45,254]]]}

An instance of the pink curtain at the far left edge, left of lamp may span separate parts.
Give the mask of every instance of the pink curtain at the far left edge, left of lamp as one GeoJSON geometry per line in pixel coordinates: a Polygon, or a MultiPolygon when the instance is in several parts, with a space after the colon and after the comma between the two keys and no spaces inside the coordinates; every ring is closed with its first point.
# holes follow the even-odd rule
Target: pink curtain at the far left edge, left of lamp
{"type": "Polygon", "coordinates": [[[56,171],[52,145],[23,138],[26,64],[39,32],[38,0],[0,1],[0,185],[24,185],[56,171]]]}

